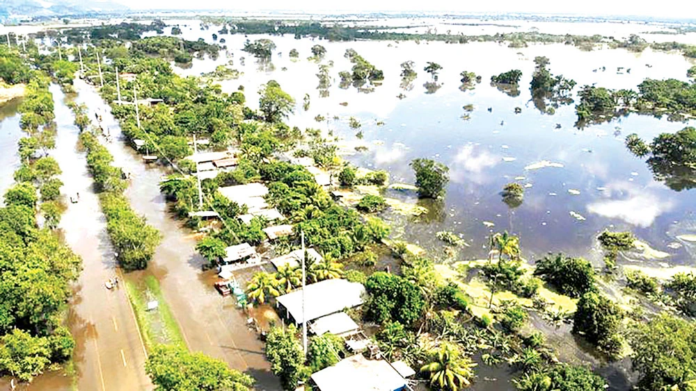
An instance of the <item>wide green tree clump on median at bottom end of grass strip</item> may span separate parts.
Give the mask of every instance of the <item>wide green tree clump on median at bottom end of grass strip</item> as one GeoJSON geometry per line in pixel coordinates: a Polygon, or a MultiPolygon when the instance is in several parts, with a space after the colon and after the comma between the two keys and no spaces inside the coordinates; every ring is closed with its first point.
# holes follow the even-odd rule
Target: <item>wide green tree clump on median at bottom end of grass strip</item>
{"type": "Polygon", "coordinates": [[[158,391],[250,391],[253,378],[226,363],[183,347],[157,344],[150,351],[145,372],[158,391]]]}

